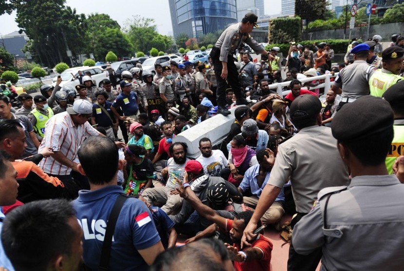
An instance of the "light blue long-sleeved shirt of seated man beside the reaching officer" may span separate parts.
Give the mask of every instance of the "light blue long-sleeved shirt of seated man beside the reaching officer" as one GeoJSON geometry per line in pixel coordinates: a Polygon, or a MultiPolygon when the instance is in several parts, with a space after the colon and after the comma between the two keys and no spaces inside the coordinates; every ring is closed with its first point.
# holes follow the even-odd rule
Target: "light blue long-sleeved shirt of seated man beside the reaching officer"
{"type": "MultiPolygon", "coordinates": [[[[245,174],[244,174],[244,178],[241,181],[239,188],[241,188],[241,190],[243,192],[247,191],[248,189],[251,189],[251,194],[256,195],[257,197],[261,196],[262,190],[264,189],[265,185],[267,184],[268,180],[269,180],[269,176],[271,175],[271,172],[267,172],[266,176],[265,176],[265,180],[262,183],[262,186],[259,187],[258,183],[257,183],[257,176],[259,174],[259,164],[252,166],[251,168],[249,168],[245,174]]],[[[282,187],[282,189],[280,190],[278,196],[276,197],[275,201],[283,201],[285,202],[285,193],[284,193],[284,189],[282,187]]]]}

